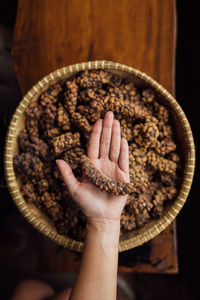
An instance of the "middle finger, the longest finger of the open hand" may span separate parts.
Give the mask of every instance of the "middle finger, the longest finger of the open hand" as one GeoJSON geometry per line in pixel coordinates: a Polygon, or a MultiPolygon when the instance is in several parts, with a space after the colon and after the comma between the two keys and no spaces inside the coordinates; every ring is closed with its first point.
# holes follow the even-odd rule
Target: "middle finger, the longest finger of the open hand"
{"type": "Polygon", "coordinates": [[[100,158],[107,158],[109,156],[113,118],[114,115],[112,111],[109,111],[105,114],[100,139],[100,158]]]}

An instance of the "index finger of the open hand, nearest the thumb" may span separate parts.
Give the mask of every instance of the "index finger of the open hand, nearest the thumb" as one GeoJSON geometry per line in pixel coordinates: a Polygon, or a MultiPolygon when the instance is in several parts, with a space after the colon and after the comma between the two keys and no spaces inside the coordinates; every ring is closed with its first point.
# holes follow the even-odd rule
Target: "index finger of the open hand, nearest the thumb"
{"type": "Polygon", "coordinates": [[[90,159],[98,159],[99,157],[99,144],[102,131],[102,124],[103,120],[100,119],[96,121],[92,129],[87,150],[87,156],[90,159]]]}

